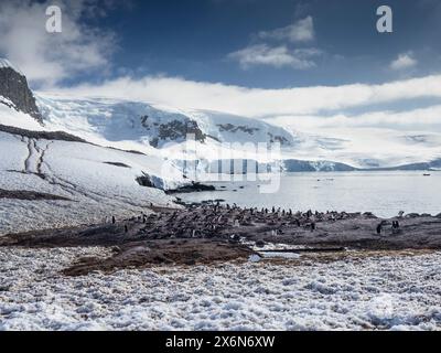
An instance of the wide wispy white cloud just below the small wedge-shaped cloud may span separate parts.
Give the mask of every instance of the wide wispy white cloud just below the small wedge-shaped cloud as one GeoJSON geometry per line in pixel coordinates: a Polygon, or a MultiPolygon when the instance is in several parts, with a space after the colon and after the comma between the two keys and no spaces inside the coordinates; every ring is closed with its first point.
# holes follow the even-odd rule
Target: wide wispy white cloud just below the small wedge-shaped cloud
{"type": "Polygon", "coordinates": [[[272,47],[267,44],[256,44],[230,53],[228,57],[239,62],[245,69],[255,65],[305,69],[315,66],[311,58],[319,54],[320,51],[314,49],[289,50],[286,45],[272,47]]]}

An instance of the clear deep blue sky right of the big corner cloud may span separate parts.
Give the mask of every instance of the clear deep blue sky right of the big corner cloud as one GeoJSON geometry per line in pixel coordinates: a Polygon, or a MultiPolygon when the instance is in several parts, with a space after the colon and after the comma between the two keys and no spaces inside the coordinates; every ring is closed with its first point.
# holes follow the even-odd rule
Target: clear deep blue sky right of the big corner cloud
{"type": "MultiPolygon", "coordinates": [[[[441,68],[439,1],[386,1],[394,10],[391,34],[376,31],[376,9],[385,1],[191,0],[135,1],[111,11],[103,25],[116,31],[115,64],[141,74],[164,73],[187,79],[247,87],[380,83],[441,68]],[[312,19],[313,38],[303,42],[261,39],[312,19]],[[228,54],[252,45],[314,49],[312,67],[250,65],[228,54]],[[400,54],[418,61],[411,69],[390,71],[400,54]]],[[[410,67],[409,67],[410,68],[410,67]]]]}

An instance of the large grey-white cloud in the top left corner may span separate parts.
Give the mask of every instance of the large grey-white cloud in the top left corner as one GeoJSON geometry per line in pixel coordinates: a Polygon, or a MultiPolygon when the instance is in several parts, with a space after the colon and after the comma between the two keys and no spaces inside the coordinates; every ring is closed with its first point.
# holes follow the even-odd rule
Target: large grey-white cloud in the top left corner
{"type": "Polygon", "coordinates": [[[52,1],[0,3],[0,56],[18,65],[31,83],[51,86],[78,73],[105,69],[115,49],[114,35],[83,24],[83,15],[103,15],[111,1],[57,1],[63,32],[45,31],[45,10],[52,1]]]}

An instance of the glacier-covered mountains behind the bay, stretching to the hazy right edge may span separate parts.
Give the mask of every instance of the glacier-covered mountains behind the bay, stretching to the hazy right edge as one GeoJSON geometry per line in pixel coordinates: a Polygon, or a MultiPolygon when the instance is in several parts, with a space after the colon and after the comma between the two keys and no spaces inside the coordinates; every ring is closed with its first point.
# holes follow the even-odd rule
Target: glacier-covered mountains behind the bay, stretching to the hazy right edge
{"type": "Polygon", "coordinates": [[[36,101],[47,129],[68,131],[101,146],[154,152],[176,162],[194,158],[187,154],[187,133],[195,137],[196,158],[207,163],[216,163],[219,154],[265,162],[263,156],[259,159],[243,146],[280,142],[280,159],[287,161],[288,171],[394,168],[441,157],[441,133],[435,131],[358,128],[308,133],[219,111],[121,99],[40,93],[36,101]]]}

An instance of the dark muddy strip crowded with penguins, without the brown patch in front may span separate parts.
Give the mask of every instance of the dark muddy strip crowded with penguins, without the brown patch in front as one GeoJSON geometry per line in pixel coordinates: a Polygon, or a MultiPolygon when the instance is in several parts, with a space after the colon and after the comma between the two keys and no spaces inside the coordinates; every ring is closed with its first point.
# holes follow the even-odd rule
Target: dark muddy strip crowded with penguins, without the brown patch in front
{"type": "MultiPolygon", "coordinates": [[[[79,227],[34,231],[0,237],[0,246],[114,246],[168,239],[239,240],[354,249],[441,249],[441,216],[408,215],[383,220],[358,213],[282,213],[214,205],[149,208],[149,215],[79,227]],[[392,229],[392,222],[399,228],[392,229]],[[381,232],[377,234],[377,226],[381,232]]],[[[110,218],[110,217],[109,217],[110,218]]]]}

